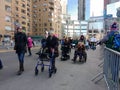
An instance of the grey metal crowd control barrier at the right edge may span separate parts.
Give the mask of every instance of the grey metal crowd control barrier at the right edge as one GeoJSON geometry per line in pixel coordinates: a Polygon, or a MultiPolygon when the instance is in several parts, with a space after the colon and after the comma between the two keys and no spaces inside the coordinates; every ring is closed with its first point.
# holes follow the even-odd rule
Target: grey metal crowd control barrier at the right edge
{"type": "Polygon", "coordinates": [[[120,90],[120,53],[112,49],[104,49],[103,75],[108,90],[120,90]]]}

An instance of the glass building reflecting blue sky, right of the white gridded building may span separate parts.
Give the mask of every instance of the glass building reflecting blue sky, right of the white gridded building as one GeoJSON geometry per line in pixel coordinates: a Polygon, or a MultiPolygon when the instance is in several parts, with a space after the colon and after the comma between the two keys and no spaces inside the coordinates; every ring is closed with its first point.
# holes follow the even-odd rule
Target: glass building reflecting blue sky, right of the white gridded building
{"type": "Polygon", "coordinates": [[[104,17],[97,16],[91,17],[88,21],[87,37],[95,36],[98,40],[103,38],[104,35],[104,17]]]}

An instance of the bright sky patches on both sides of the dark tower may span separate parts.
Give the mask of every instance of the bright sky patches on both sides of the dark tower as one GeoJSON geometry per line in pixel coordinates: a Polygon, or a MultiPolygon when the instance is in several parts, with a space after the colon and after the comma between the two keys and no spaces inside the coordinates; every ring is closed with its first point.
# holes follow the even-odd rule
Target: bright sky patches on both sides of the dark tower
{"type": "MultiPolygon", "coordinates": [[[[103,15],[103,1],[104,0],[90,0],[90,16],[101,16],[103,15]]],[[[68,0],[68,14],[71,15],[72,20],[77,20],[78,15],[78,0],[68,0]]]]}

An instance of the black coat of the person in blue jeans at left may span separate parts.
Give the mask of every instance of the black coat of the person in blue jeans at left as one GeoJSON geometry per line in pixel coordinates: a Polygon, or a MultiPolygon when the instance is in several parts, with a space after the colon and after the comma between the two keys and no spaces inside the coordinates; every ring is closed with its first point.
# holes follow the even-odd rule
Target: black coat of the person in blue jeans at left
{"type": "Polygon", "coordinates": [[[23,32],[18,32],[15,34],[15,50],[16,53],[25,53],[27,45],[27,36],[23,32]]]}

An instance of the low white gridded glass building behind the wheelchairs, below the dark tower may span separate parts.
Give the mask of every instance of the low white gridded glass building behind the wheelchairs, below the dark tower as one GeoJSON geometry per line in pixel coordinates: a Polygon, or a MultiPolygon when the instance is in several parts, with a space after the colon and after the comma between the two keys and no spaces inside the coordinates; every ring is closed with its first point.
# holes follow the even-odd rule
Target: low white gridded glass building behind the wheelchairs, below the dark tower
{"type": "Polygon", "coordinates": [[[87,36],[87,21],[70,20],[64,23],[64,36],[73,39],[80,38],[80,35],[87,36]]]}

